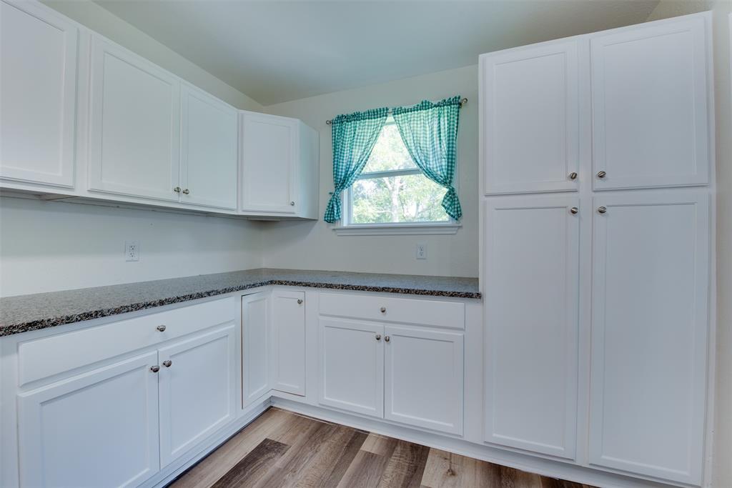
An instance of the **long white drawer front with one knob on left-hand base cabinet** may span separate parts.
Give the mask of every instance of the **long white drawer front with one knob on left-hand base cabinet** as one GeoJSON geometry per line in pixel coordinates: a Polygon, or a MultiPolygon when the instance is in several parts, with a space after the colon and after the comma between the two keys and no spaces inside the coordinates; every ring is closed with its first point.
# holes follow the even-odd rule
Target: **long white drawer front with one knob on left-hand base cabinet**
{"type": "Polygon", "coordinates": [[[20,386],[168,339],[234,320],[234,297],[102,326],[32,339],[18,345],[20,386]],[[158,326],[165,326],[159,331],[158,326]]]}

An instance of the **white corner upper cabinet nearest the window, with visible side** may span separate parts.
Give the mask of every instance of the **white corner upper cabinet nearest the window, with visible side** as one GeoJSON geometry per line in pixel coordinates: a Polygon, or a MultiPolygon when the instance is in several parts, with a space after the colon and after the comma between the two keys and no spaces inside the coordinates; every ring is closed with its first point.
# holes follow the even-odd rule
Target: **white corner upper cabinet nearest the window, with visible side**
{"type": "Polygon", "coordinates": [[[244,111],[240,130],[242,213],[317,219],[317,132],[297,119],[244,111]]]}

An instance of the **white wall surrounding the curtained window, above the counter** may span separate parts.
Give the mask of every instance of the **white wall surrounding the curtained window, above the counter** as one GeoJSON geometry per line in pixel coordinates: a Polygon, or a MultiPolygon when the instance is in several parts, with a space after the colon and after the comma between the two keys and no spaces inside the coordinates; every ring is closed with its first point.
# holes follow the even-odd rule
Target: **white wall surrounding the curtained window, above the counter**
{"type": "Polygon", "coordinates": [[[320,132],[320,212],[333,189],[332,143],[326,120],[340,113],[377,107],[413,105],[460,94],[468,98],[458,130],[458,194],[463,228],[452,236],[336,236],[322,217],[318,222],[267,224],[264,265],[294,269],[478,276],[478,69],[436,72],[360,89],[338,91],[265,107],[266,112],[302,119],[320,132]],[[427,260],[415,258],[418,242],[427,244],[427,260]]]}

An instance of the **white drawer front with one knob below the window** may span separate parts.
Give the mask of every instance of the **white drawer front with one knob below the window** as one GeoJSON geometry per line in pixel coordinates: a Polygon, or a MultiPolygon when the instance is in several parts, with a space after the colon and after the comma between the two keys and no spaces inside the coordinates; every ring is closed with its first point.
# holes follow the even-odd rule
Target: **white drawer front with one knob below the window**
{"type": "Polygon", "coordinates": [[[420,326],[465,329],[465,304],[457,301],[321,293],[320,313],[366,320],[414,323],[420,326]]]}

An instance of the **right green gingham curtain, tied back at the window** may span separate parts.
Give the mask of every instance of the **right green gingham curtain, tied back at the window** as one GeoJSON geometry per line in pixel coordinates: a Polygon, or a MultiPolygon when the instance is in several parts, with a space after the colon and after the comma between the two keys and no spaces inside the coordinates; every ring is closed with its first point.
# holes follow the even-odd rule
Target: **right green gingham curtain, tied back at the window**
{"type": "Polygon", "coordinates": [[[436,184],[447,188],[442,208],[455,220],[463,216],[455,178],[455,151],[460,119],[460,96],[440,102],[420,102],[413,107],[392,110],[392,116],[409,155],[436,184]]]}

